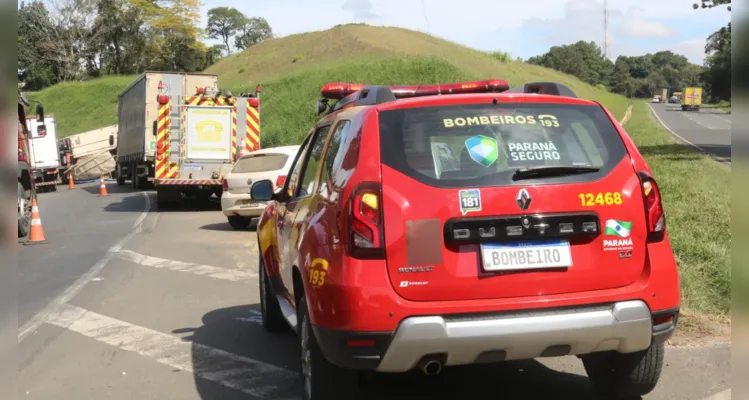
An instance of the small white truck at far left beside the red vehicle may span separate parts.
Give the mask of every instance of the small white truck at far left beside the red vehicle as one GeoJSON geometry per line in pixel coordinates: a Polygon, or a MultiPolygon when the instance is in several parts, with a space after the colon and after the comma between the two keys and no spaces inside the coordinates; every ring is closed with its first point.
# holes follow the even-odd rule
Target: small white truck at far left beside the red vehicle
{"type": "Polygon", "coordinates": [[[44,117],[46,131],[39,132],[36,117],[26,118],[29,138],[31,170],[37,192],[55,191],[60,183],[60,153],[57,149],[57,123],[54,115],[44,117]]]}

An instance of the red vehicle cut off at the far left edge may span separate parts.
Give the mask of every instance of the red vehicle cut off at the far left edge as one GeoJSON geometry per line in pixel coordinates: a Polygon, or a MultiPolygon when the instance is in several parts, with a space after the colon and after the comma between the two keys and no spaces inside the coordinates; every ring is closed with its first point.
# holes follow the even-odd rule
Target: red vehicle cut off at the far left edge
{"type": "MultiPolygon", "coordinates": [[[[24,71],[18,71],[18,80],[23,80],[24,71]]],[[[29,151],[29,138],[31,133],[26,125],[26,108],[30,101],[21,93],[23,82],[18,84],[18,237],[26,237],[31,229],[31,203],[36,199],[36,185],[34,184],[34,173],[31,165],[29,151]]],[[[36,132],[46,132],[44,125],[44,107],[38,101],[36,103],[37,121],[36,132]]]]}

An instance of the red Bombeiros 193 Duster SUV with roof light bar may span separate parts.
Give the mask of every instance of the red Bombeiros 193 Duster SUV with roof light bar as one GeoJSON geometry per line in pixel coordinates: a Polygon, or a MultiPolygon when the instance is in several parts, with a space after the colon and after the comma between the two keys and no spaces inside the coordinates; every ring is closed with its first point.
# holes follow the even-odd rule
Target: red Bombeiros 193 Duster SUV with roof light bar
{"type": "Polygon", "coordinates": [[[328,84],[258,225],[263,325],[299,334],[304,398],[357,373],[579,356],[656,385],[680,289],[658,185],[564,85],[328,84]],[[328,99],[336,100],[333,105],[328,99]]]}

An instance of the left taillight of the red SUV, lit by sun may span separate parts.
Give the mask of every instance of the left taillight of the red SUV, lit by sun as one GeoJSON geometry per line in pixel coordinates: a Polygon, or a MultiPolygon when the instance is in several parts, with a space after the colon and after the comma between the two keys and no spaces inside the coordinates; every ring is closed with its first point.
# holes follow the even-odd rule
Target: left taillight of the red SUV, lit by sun
{"type": "Polygon", "coordinates": [[[385,258],[380,185],[367,182],[351,195],[349,205],[349,252],[354,258],[385,258]]]}

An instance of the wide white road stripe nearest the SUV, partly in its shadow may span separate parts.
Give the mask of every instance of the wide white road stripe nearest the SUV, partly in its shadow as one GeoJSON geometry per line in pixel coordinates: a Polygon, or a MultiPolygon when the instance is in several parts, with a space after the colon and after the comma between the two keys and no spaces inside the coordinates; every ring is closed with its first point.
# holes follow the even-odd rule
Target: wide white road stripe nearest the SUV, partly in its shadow
{"type": "Polygon", "coordinates": [[[279,399],[277,391],[298,384],[289,370],[68,304],[47,322],[255,397],[279,399]]]}

